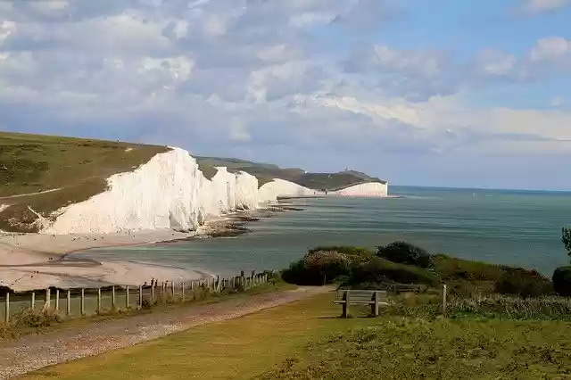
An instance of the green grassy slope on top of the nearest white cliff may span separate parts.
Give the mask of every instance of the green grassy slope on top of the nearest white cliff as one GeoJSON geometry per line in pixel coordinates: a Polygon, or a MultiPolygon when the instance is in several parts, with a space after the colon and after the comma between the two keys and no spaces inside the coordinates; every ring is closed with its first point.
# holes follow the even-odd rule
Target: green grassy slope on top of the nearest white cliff
{"type": "Polygon", "coordinates": [[[0,203],[11,205],[0,213],[0,229],[33,231],[30,223],[37,217],[28,207],[48,217],[102,192],[113,174],[167,151],[164,146],[0,132],[0,203]],[[33,195],[6,198],[15,194],[33,195]]]}

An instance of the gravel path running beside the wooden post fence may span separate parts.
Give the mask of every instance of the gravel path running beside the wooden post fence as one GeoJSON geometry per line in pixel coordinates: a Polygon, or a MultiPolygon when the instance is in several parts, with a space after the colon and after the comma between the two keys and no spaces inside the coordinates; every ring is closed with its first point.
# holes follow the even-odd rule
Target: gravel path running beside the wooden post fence
{"type": "Polygon", "coordinates": [[[96,322],[67,331],[27,335],[17,341],[0,343],[0,379],[128,347],[190,327],[241,317],[330,290],[327,287],[299,287],[246,299],[230,298],[208,305],[96,322]]]}

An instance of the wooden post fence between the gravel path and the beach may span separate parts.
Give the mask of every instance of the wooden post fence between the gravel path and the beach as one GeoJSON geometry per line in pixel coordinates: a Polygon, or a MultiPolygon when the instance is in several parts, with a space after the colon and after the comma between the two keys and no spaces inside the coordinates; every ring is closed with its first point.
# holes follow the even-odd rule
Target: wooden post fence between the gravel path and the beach
{"type": "MultiPolygon", "coordinates": [[[[222,293],[224,291],[246,290],[265,284],[267,274],[252,271],[249,277],[244,271],[238,277],[211,277],[188,282],[152,280],[150,285],[111,285],[98,288],[61,289],[49,287],[45,290],[14,293],[6,290],[0,310],[4,309],[4,322],[23,310],[54,311],[66,318],[102,314],[106,310],[142,309],[145,302],[186,302],[195,299],[199,293],[222,293]]],[[[146,283],[145,283],[146,284],[146,283]]],[[[1,299],[0,299],[1,300],[1,299]]]]}

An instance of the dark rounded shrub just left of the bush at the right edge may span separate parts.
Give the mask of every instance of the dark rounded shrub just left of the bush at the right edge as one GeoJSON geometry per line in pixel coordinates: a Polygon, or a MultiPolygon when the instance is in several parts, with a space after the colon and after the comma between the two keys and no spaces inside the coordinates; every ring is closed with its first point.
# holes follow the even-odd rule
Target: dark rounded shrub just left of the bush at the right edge
{"type": "Polygon", "coordinates": [[[553,293],[550,280],[536,270],[510,268],[495,284],[495,291],[501,294],[518,294],[523,297],[538,297],[553,293]]]}

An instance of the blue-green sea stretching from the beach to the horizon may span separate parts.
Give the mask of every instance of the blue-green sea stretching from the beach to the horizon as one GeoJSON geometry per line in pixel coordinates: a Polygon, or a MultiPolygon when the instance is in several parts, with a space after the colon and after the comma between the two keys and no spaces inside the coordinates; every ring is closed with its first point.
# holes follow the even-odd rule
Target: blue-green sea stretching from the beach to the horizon
{"type": "Polygon", "coordinates": [[[569,262],[561,227],[571,225],[571,193],[391,186],[391,198],[301,198],[303,211],[247,223],[252,232],[170,244],[74,253],[196,268],[222,276],[287,267],[318,245],[404,240],[431,253],[536,268],[550,276],[569,262]]]}

